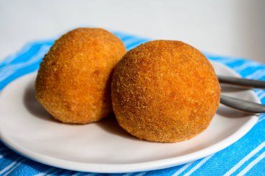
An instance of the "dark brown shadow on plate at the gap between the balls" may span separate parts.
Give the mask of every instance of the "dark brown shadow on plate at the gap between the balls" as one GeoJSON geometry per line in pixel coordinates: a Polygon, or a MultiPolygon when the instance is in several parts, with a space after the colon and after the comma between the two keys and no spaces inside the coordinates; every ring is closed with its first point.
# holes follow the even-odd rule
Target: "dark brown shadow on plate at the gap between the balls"
{"type": "Polygon", "coordinates": [[[112,115],[109,115],[109,117],[100,120],[100,122],[96,122],[96,125],[104,131],[107,131],[108,133],[119,135],[123,138],[130,138],[131,140],[138,140],[133,135],[121,128],[121,126],[119,126],[116,117],[113,113],[112,115]]]}

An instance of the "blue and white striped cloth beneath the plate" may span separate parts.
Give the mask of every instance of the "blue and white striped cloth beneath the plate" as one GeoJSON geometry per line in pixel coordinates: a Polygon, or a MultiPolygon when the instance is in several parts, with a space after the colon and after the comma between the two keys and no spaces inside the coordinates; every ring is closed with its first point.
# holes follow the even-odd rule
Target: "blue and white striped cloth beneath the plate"
{"type": "MultiPolygon", "coordinates": [[[[114,33],[126,44],[128,50],[149,41],[121,33],[114,33]]],[[[0,90],[9,82],[38,69],[44,54],[54,40],[29,43],[20,52],[0,62],[0,90]]],[[[205,54],[205,53],[204,53],[205,54]]],[[[217,57],[205,54],[208,59],[218,61],[234,69],[244,78],[265,80],[265,66],[255,61],[234,57],[217,57]]],[[[255,90],[265,104],[265,91],[255,90]]],[[[239,141],[204,159],[173,168],[153,170],[126,175],[265,175],[265,115],[239,141]],[[240,151],[240,152],[239,152],[240,151]]],[[[27,159],[8,149],[0,140],[0,175],[101,175],[81,173],[46,166],[27,159]]],[[[123,175],[123,174],[116,174],[123,175]]]]}

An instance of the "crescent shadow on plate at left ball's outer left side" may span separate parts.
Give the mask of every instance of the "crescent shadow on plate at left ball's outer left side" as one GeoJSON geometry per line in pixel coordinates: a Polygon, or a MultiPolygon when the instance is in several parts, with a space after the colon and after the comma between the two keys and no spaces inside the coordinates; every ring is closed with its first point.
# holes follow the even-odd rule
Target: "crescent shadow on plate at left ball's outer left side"
{"type": "Polygon", "coordinates": [[[29,83],[24,92],[24,105],[31,115],[34,115],[40,119],[45,119],[47,121],[56,122],[56,120],[36,100],[34,80],[29,83]]]}

